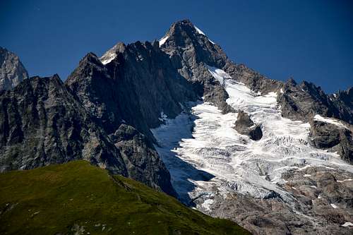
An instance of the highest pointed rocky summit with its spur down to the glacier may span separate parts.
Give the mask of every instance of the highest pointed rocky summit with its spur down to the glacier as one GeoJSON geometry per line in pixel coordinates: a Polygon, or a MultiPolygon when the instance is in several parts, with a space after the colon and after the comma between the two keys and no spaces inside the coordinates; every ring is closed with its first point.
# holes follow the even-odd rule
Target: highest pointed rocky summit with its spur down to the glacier
{"type": "Polygon", "coordinates": [[[228,59],[222,49],[189,20],[174,23],[163,38],[160,48],[169,55],[180,75],[193,83],[197,94],[206,102],[215,104],[223,113],[232,112],[226,102],[228,94],[225,88],[208,70],[209,66],[225,66],[228,59]]]}

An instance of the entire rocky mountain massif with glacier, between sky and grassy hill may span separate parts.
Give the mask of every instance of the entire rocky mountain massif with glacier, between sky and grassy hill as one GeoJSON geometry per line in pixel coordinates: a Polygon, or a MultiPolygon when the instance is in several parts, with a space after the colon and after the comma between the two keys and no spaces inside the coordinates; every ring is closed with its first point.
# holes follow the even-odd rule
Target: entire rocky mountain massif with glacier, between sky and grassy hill
{"type": "Polygon", "coordinates": [[[64,82],[0,60],[1,172],[84,159],[253,234],[352,234],[352,88],[267,78],[190,20],[89,52],[64,82]]]}

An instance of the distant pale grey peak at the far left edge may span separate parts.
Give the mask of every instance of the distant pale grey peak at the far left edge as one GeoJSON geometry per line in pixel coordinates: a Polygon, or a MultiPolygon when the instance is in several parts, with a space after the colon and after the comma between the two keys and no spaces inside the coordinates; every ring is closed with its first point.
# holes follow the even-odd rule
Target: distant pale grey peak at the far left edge
{"type": "Polygon", "coordinates": [[[0,91],[11,90],[28,78],[28,73],[18,56],[3,47],[0,47],[0,65],[0,91]]]}

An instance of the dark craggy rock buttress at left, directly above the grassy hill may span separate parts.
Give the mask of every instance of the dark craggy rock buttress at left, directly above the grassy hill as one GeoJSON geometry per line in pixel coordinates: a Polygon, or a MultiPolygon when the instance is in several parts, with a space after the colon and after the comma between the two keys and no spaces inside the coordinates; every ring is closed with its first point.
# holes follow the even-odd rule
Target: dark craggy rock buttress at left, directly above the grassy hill
{"type": "Polygon", "coordinates": [[[127,174],[119,151],[59,76],[26,79],[0,100],[1,171],[87,159],[127,174]]]}

